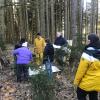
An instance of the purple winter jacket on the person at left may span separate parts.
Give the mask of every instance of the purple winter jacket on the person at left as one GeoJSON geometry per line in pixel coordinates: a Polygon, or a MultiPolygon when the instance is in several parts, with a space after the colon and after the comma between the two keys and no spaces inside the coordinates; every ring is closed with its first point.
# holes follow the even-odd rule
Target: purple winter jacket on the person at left
{"type": "Polygon", "coordinates": [[[32,60],[32,52],[27,47],[21,47],[13,51],[17,56],[17,64],[28,64],[32,60]]]}

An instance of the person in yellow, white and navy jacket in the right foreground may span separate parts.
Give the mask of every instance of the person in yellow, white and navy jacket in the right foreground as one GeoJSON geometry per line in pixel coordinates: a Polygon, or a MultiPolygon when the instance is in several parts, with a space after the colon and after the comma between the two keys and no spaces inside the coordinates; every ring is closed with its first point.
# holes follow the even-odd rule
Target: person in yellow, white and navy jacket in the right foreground
{"type": "Polygon", "coordinates": [[[86,100],[87,95],[89,100],[98,100],[100,91],[100,40],[96,34],[91,33],[88,42],[74,79],[78,100],[86,100]]]}

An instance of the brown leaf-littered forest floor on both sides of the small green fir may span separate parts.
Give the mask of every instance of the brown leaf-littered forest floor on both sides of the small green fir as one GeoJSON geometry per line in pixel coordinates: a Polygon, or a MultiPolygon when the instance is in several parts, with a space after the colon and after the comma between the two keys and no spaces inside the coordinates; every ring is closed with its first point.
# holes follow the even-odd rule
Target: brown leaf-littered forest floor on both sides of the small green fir
{"type": "MultiPolygon", "coordinates": [[[[0,70],[0,100],[32,100],[30,82],[16,82],[13,69],[12,45],[7,45],[5,54],[10,60],[10,66],[0,70]]],[[[74,76],[74,75],[73,75],[74,76]]],[[[77,100],[73,88],[73,76],[64,73],[56,75],[56,100],[77,100]]]]}

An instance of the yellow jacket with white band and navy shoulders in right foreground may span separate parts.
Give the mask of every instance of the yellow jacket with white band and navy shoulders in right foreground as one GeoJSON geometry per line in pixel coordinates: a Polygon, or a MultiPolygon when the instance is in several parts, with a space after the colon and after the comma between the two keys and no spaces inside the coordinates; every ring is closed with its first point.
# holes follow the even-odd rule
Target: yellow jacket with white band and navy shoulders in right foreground
{"type": "Polygon", "coordinates": [[[100,42],[86,46],[74,84],[85,91],[100,91],[100,42]]]}

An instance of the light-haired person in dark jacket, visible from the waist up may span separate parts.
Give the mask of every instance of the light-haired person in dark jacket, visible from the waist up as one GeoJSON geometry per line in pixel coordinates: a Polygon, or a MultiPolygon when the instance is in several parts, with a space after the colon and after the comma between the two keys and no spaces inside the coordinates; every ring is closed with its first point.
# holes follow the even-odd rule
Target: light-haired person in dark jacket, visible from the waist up
{"type": "Polygon", "coordinates": [[[55,45],[63,46],[67,44],[67,41],[62,37],[61,32],[57,32],[57,37],[54,42],[55,45]]]}

